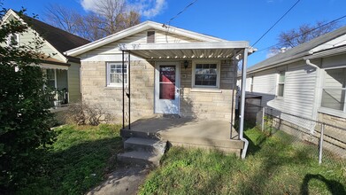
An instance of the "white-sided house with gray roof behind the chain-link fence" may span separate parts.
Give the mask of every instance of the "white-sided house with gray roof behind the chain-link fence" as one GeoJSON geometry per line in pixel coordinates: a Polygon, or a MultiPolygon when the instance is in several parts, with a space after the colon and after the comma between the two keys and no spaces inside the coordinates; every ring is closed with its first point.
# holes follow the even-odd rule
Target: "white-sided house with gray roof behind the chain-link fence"
{"type": "Polygon", "coordinates": [[[315,121],[340,127],[325,133],[345,156],[346,27],[250,66],[246,83],[247,96],[260,98],[252,102],[273,108],[286,127],[311,134],[319,133],[315,121]]]}

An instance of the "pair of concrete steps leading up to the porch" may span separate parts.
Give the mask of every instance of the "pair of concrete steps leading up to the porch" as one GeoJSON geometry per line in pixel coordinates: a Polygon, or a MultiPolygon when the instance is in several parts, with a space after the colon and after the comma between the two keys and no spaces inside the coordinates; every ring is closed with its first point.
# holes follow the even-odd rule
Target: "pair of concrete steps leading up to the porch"
{"type": "Polygon", "coordinates": [[[131,164],[158,167],[165,153],[166,142],[143,137],[129,137],[124,142],[124,153],[119,153],[119,161],[131,164]]]}

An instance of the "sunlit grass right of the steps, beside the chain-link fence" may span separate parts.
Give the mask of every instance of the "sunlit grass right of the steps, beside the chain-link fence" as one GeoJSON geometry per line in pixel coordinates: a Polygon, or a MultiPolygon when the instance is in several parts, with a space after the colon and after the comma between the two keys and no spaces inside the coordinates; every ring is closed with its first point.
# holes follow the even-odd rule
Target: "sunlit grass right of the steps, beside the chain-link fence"
{"type": "Polygon", "coordinates": [[[140,194],[346,194],[346,169],[319,166],[311,145],[282,131],[247,129],[246,160],[220,152],[173,147],[140,194]]]}

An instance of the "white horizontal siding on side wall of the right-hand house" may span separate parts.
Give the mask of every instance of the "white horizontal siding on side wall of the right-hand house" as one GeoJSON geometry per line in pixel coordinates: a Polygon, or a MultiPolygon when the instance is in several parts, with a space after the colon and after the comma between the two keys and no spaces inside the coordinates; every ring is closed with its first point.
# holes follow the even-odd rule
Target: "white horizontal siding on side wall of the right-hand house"
{"type": "MultiPolygon", "coordinates": [[[[254,75],[253,94],[262,96],[262,106],[271,106],[284,113],[314,120],[316,71],[308,71],[310,68],[304,61],[289,64],[285,71],[285,98],[276,98],[278,72],[283,66],[258,72],[254,75]]],[[[305,129],[313,129],[313,122],[306,122],[281,114],[281,119],[293,122],[305,129]]]]}

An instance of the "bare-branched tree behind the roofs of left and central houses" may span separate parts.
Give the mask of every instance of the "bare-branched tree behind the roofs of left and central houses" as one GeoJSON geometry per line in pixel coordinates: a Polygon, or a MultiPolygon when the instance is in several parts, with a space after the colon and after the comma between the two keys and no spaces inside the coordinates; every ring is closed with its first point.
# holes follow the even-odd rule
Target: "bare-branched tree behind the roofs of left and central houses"
{"type": "Polygon", "coordinates": [[[125,0],[99,0],[93,12],[81,13],[59,4],[46,8],[44,20],[50,25],[90,41],[112,35],[140,23],[140,14],[125,0]]]}

